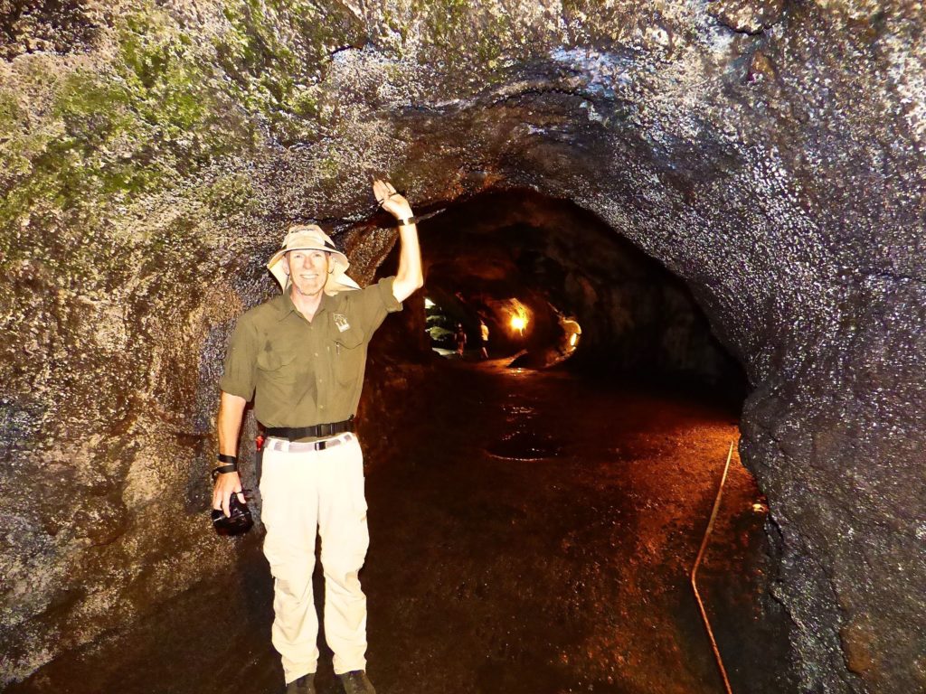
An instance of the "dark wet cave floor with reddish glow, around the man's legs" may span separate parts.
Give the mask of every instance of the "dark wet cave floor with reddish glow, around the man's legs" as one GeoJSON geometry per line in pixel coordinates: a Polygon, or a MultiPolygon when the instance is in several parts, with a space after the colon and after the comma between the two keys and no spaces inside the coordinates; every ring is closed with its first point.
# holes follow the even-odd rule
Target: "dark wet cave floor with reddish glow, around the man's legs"
{"type": "MultiPolygon", "coordinates": [[[[722,692],[689,574],[736,414],[500,362],[439,371],[410,396],[427,414],[369,442],[377,691],[722,692]]],[[[698,575],[734,692],[792,689],[765,514],[734,450],[698,575]]],[[[282,692],[267,566],[257,533],[243,541],[225,583],[206,577],[9,691],[282,692]]],[[[330,656],[319,694],[341,691],[330,656]]]]}

